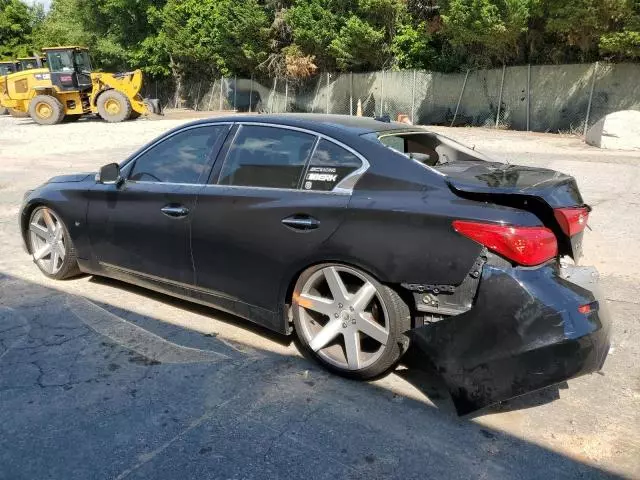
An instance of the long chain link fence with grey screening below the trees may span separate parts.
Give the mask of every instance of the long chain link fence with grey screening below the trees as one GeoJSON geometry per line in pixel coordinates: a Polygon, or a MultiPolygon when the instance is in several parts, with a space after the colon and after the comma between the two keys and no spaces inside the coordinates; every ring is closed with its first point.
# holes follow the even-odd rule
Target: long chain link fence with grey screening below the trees
{"type": "Polygon", "coordinates": [[[419,70],[321,73],[305,80],[151,81],[164,108],[201,111],[406,115],[414,124],[586,133],[609,113],[640,109],[639,64],[503,67],[444,74],[419,70]]]}

